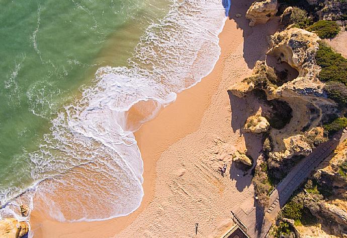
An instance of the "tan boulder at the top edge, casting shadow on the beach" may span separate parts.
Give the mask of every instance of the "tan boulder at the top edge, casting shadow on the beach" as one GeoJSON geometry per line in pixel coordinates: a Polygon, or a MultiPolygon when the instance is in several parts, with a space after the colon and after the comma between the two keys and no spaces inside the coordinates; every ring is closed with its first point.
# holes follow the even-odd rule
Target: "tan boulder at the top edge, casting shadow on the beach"
{"type": "Polygon", "coordinates": [[[250,20],[249,26],[267,23],[277,13],[277,7],[277,0],[252,3],[246,13],[246,18],[250,20]]]}

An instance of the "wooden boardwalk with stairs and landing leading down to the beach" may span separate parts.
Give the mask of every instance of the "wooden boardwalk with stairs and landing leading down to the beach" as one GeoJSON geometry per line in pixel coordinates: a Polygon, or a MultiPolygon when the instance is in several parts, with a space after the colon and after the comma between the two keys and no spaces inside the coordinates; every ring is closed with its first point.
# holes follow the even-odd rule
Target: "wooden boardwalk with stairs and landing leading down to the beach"
{"type": "Polygon", "coordinates": [[[311,172],[321,163],[336,147],[347,138],[344,129],[332,140],[320,144],[310,155],[303,158],[287,176],[278,184],[270,195],[270,206],[265,210],[250,198],[241,206],[232,209],[236,216],[235,221],[250,238],[264,238],[272,223],[275,221],[281,208],[286,204],[293,192],[303,183],[311,172]],[[266,212],[265,212],[266,211],[266,212]]]}

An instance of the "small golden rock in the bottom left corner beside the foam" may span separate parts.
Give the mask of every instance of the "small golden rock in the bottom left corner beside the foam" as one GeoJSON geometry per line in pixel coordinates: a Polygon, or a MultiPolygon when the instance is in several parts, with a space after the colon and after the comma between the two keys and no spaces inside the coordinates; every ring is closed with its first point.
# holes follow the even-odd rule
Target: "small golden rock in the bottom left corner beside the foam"
{"type": "Polygon", "coordinates": [[[26,222],[18,221],[14,218],[0,220],[0,237],[2,238],[21,238],[29,232],[26,222]]]}

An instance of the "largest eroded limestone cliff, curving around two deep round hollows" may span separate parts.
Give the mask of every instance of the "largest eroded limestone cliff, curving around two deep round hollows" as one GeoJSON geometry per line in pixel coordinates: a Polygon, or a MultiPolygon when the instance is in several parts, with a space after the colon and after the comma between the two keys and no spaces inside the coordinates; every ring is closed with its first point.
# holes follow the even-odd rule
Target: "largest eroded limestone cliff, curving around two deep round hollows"
{"type": "Polygon", "coordinates": [[[324,83],[317,78],[320,72],[315,62],[318,40],[316,34],[299,28],[276,33],[270,39],[267,55],[278,59],[278,62],[289,64],[298,72],[298,77],[278,86],[276,79],[266,79],[266,75],[269,75],[266,63],[257,62],[253,76],[229,89],[238,97],[254,88],[262,89],[269,101],[284,101],[292,109],[295,108],[285,127],[269,130],[273,146],[269,156],[272,160],[282,161],[311,153],[312,147],[324,140],[323,130],[318,127],[322,117],[337,110],[336,103],[324,94],[324,83]]]}

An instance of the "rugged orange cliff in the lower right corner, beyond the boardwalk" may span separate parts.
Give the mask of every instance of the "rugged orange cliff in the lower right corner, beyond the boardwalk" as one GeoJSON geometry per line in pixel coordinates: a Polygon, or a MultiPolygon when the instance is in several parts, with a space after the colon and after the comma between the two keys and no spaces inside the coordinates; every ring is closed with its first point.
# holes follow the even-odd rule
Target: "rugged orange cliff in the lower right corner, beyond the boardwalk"
{"type": "Polygon", "coordinates": [[[347,143],[339,145],[335,153],[320,165],[312,180],[315,186],[307,186],[304,206],[321,225],[296,225],[302,237],[347,237],[347,143]],[[313,189],[312,189],[313,188],[313,189]],[[314,237],[314,236],[313,236],[314,237]]]}

